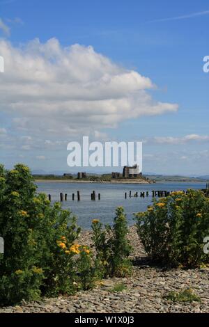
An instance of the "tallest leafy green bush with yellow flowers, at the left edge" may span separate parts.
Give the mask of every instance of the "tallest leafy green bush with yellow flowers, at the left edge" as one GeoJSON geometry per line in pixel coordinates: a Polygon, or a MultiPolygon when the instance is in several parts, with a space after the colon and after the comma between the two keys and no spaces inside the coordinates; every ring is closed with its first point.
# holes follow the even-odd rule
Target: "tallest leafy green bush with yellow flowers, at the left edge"
{"type": "Polygon", "coordinates": [[[0,304],[74,292],[79,231],[70,212],[36,194],[29,168],[0,166],[0,304]]]}

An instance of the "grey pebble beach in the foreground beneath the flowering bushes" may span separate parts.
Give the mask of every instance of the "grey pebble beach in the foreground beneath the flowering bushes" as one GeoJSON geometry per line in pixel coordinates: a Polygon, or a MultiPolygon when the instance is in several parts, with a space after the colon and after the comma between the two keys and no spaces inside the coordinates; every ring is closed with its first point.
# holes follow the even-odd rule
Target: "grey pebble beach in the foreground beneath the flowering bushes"
{"type": "MultiPolygon", "coordinates": [[[[201,313],[209,311],[209,269],[165,269],[153,266],[133,226],[128,237],[133,247],[134,269],[127,278],[107,278],[89,291],[74,296],[43,298],[41,301],[21,303],[0,308],[0,313],[201,313]],[[122,292],[113,292],[123,284],[122,292]],[[171,291],[193,289],[201,301],[173,302],[165,296],[171,291]]],[[[91,232],[84,231],[79,243],[91,246],[91,232]]]]}

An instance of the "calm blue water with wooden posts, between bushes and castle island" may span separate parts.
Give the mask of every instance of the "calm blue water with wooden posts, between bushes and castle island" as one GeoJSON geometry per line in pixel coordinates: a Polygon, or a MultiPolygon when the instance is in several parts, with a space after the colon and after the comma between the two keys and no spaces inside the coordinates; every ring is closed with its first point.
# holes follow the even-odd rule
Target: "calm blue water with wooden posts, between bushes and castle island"
{"type": "MultiPolygon", "coordinates": [[[[134,223],[133,214],[145,211],[152,202],[152,190],[175,191],[186,189],[205,189],[206,183],[163,183],[163,184],[98,184],[98,183],[59,183],[38,182],[38,192],[52,195],[52,203],[59,201],[60,193],[68,193],[68,201],[63,202],[63,208],[68,208],[77,216],[77,223],[84,229],[89,229],[91,220],[99,218],[102,223],[111,223],[116,207],[123,206],[130,225],[134,223]],[[77,202],[77,191],[80,191],[81,201],[77,202]],[[101,194],[101,200],[91,201],[91,193],[101,194]],[[129,191],[149,191],[148,198],[128,198],[129,191]],[[127,192],[127,200],[124,193],[127,192]],[[75,193],[75,201],[72,201],[75,193]]],[[[140,195],[140,193],[139,193],[140,195]]],[[[98,196],[97,196],[98,199],[98,196]]]]}

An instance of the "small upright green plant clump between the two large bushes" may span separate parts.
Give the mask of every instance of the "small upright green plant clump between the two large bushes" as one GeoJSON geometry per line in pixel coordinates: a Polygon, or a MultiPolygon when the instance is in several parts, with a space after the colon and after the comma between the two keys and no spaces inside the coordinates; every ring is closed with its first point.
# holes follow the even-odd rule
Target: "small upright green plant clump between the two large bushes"
{"type": "Polygon", "coordinates": [[[127,240],[127,220],[122,207],[116,209],[114,225],[104,228],[100,221],[93,220],[93,243],[96,260],[100,263],[102,276],[123,277],[131,272],[132,265],[128,258],[131,246],[127,240]]]}

